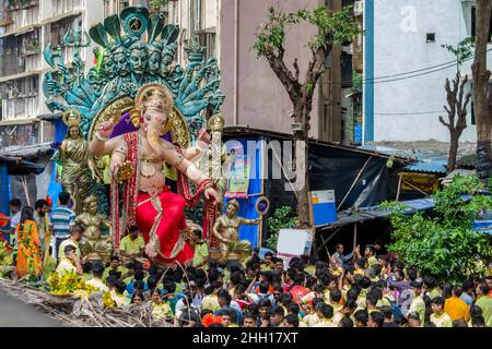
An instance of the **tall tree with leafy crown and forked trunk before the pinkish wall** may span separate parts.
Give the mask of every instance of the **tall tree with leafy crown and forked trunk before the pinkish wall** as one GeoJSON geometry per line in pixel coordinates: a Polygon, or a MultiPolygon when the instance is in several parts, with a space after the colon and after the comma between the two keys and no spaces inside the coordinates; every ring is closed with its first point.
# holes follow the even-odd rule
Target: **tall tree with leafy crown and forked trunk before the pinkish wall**
{"type": "MultiPolygon", "coordinates": [[[[296,149],[298,157],[303,152],[304,159],[308,158],[307,135],[309,132],[311,110],[313,108],[313,95],[315,86],[325,71],[325,61],[331,52],[333,46],[350,41],[360,33],[358,23],[354,21],[352,8],[345,7],[341,11],[332,12],[325,5],[314,10],[300,10],[286,13],[280,9],[270,8],[268,12],[268,23],[261,25],[256,34],[256,43],[253,50],[258,58],[265,58],[273,73],[284,86],[292,104],[294,123],[298,124],[293,131],[294,144],[304,144],[302,151],[296,149]],[[308,23],[317,28],[317,34],[307,43],[311,49],[311,59],[306,68],[304,81],[300,77],[300,67],[297,59],[294,60],[292,72],[285,64],[285,31],[288,27],[308,23]]],[[[309,188],[307,170],[296,168],[297,176],[303,176],[303,188],[296,188],[297,217],[300,227],[308,227],[309,209],[307,192],[309,188]]]]}

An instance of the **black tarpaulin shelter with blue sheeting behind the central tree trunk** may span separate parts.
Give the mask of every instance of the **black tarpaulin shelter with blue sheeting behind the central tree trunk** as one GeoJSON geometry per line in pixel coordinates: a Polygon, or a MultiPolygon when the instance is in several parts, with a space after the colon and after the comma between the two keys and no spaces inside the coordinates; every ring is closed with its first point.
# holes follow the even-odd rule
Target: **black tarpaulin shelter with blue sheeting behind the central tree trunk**
{"type": "MultiPolygon", "coordinates": [[[[239,229],[239,239],[247,239],[254,246],[259,246],[268,238],[262,233],[268,217],[281,206],[291,206],[294,212],[296,209],[297,202],[292,190],[295,173],[290,163],[292,135],[246,127],[226,127],[223,141],[229,148],[242,144],[245,158],[250,159],[250,173],[257,174],[255,178],[250,176],[247,197],[238,198],[238,215],[257,218],[255,204],[258,197],[265,195],[270,200],[271,207],[261,226],[242,226],[239,229]]],[[[307,169],[311,191],[335,190],[337,210],[374,206],[395,197],[398,183],[395,173],[409,163],[411,159],[309,140],[307,169]],[[390,158],[393,166],[388,167],[390,158]]]]}

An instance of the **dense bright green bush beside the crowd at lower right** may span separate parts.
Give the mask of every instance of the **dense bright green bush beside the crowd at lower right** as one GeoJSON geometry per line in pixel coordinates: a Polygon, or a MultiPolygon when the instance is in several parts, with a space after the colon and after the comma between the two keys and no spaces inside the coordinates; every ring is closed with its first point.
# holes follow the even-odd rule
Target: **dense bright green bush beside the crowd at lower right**
{"type": "Polygon", "coordinates": [[[452,281],[484,276],[492,261],[491,238],[472,230],[477,213],[492,207],[491,197],[479,193],[482,186],[476,177],[455,177],[434,195],[438,218],[421,213],[405,215],[401,203],[383,203],[383,209],[393,210],[389,251],[422,274],[452,281]],[[466,203],[461,194],[476,196],[466,203]]]}

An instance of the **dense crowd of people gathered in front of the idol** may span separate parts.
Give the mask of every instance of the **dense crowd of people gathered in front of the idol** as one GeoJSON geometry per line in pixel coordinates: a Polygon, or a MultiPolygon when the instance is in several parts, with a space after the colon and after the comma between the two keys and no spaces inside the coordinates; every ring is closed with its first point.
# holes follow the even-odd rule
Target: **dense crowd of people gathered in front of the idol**
{"type": "Polygon", "coordinates": [[[338,243],[328,262],[303,255],[286,263],[272,252],[260,257],[255,249],[246,261],[224,264],[209,258],[197,233],[192,264],[164,269],[145,258],[144,240],[130,227],[108,265],[91,263],[81,256],[83,227],[75,225],[69,198],[60,193],[52,212],[44,200],[34,208],[11,201],[17,276],[34,269],[43,277],[50,258],[55,273],[77,273],[94,289],[110,292],[116,306],[149,302],[154,320],[171,326],[492,326],[492,276],[460,285],[437,280],[386,252],[382,241],[347,255],[338,243]]]}

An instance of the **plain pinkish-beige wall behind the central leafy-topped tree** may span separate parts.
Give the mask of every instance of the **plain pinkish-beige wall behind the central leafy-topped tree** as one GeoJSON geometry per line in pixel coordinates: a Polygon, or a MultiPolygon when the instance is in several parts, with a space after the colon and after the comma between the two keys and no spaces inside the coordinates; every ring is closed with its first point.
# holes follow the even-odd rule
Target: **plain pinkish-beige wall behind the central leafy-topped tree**
{"type": "MultiPolygon", "coordinates": [[[[266,130],[291,133],[289,111],[292,103],[265,59],[257,59],[250,50],[255,43],[255,32],[268,19],[268,8],[280,5],[285,11],[296,11],[305,7],[318,5],[318,0],[225,0],[221,4],[221,70],[222,89],[227,96],[222,108],[226,124],[250,125],[266,130]],[[235,4],[238,5],[238,27],[235,37],[235,4]],[[237,44],[237,52],[235,52],[237,44]],[[236,55],[237,53],[237,57],[236,55]],[[237,58],[237,76],[235,68],[237,58]],[[235,97],[236,95],[236,97],[235,97]],[[235,108],[234,99],[237,107],[235,108]],[[236,109],[236,110],[235,110],[236,109]]],[[[297,57],[301,76],[304,76],[309,57],[306,44],[315,34],[314,28],[294,26],[288,33],[285,62],[292,69],[297,57]]],[[[318,135],[317,91],[313,101],[311,134],[318,135]]]]}

